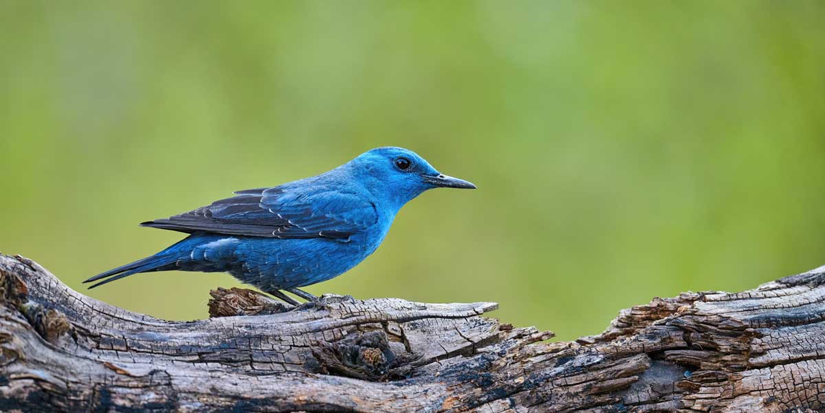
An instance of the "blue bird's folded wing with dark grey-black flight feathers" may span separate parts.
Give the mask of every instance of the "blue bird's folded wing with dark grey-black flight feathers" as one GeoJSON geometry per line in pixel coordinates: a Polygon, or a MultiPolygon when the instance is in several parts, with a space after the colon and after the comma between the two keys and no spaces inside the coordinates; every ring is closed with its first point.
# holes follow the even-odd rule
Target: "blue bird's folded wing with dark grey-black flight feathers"
{"type": "Polygon", "coordinates": [[[259,188],[194,211],[141,225],[185,233],[267,238],[347,239],[378,221],[372,202],[355,193],[318,186],[259,188]]]}

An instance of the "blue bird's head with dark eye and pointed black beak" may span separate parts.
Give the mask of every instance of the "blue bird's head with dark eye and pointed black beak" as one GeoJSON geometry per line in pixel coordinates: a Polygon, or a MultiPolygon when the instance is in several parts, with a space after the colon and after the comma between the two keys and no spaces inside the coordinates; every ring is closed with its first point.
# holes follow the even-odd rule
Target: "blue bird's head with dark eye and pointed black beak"
{"type": "Polygon", "coordinates": [[[464,179],[441,174],[417,153],[394,146],[366,151],[347,166],[371,193],[398,208],[427,189],[475,189],[464,179]]]}

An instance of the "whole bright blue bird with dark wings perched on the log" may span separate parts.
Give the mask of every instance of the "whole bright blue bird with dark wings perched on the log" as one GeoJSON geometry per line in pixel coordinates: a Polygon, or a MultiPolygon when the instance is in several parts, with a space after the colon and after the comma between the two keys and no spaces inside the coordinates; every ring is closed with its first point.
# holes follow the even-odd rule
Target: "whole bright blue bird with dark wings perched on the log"
{"type": "Polygon", "coordinates": [[[341,275],[375,251],[404,204],[431,188],[475,188],[440,174],[413,151],[380,147],[324,174],[247,189],[143,226],[190,234],[151,257],[89,278],[91,288],[149,271],[225,271],[298,304],[281,290],[341,275]],[[104,280],[105,279],[105,280],[104,280]]]}

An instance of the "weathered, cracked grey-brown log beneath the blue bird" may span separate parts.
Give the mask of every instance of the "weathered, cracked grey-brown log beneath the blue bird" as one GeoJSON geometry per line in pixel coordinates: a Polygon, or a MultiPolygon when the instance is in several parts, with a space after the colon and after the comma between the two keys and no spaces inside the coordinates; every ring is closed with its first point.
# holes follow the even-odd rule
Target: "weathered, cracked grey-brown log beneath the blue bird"
{"type": "Polygon", "coordinates": [[[216,290],[222,317],[170,322],[0,256],[0,411],[825,411],[825,267],[573,342],[493,303],[324,301],[216,290]]]}

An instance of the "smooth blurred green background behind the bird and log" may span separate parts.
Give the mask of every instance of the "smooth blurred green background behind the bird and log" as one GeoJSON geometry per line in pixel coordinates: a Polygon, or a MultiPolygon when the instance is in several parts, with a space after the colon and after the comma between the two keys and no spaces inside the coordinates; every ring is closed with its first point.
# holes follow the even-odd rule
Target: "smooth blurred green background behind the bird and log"
{"type": "MultiPolygon", "coordinates": [[[[0,2],[0,251],[80,281],[139,228],[405,146],[406,206],[315,294],[492,300],[561,339],[825,263],[825,2],[0,2]],[[630,7],[632,6],[632,7],[630,7]]],[[[89,294],[206,314],[225,274],[89,294]]]]}

